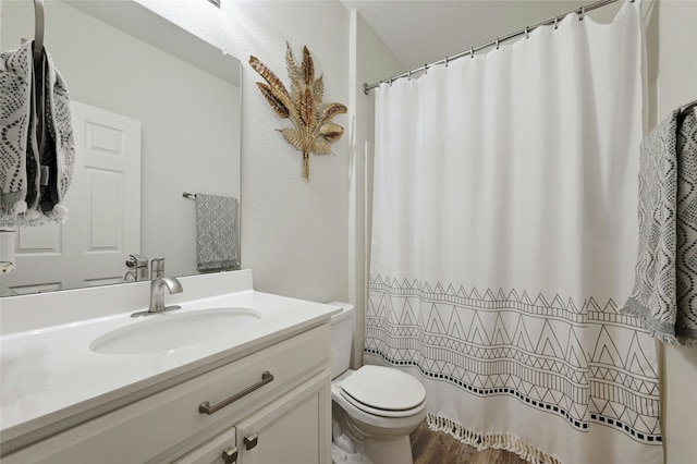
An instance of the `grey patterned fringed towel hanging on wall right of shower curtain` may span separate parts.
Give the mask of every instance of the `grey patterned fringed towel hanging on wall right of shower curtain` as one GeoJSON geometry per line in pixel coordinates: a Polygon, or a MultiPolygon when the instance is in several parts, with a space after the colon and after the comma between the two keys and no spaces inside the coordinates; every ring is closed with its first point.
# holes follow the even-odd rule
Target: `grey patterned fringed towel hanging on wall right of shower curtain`
{"type": "Polygon", "coordinates": [[[623,312],[663,342],[697,347],[697,118],[677,109],[640,147],[639,252],[623,312]]]}

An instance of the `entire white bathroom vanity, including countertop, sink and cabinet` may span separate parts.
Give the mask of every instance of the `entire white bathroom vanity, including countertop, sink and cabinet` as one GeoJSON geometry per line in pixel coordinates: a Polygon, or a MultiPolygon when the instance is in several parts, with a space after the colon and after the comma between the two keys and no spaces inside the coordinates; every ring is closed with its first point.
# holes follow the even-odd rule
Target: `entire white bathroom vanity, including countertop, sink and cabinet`
{"type": "Polygon", "coordinates": [[[182,308],[145,318],[148,282],[0,301],[3,463],[331,462],[340,309],[250,271],[180,280],[182,308]]]}

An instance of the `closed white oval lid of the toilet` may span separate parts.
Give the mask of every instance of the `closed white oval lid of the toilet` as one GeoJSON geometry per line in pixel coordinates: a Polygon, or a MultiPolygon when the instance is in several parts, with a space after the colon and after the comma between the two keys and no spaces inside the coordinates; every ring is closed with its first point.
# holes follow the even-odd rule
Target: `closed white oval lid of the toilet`
{"type": "Polygon", "coordinates": [[[341,382],[341,389],[357,402],[381,411],[412,410],[426,399],[426,389],[414,377],[381,366],[363,366],[341,382]]]}

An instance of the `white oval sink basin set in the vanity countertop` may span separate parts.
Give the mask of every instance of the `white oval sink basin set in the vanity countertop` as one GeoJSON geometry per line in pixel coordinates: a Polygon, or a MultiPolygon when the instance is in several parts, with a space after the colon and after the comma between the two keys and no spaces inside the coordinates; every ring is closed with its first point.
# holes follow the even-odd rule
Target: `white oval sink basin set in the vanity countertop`
{"type": "Polygon", "coordinates": [[[105,333],[89,344],[102,354],[143,354],[191,346],[221,337],[234,337],[261,319],[249,308],[211,308],[162,313],[105,333]]]}

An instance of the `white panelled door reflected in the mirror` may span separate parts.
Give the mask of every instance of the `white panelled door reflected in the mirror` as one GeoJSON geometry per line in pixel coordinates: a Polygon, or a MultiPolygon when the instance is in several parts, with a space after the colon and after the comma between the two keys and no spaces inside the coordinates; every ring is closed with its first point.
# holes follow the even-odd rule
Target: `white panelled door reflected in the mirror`
{"type": "Polygon", "coordinates": [[[2,280],[23,294],[120,282],[140,251],[140,122],[71,103],[75,171],[63,224],[20,228],[16,269],[2,280]]]}

